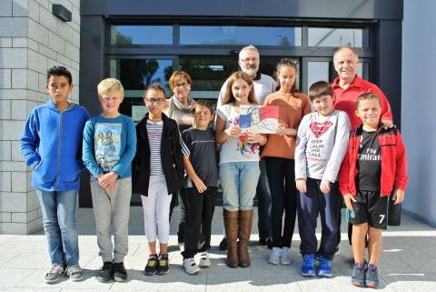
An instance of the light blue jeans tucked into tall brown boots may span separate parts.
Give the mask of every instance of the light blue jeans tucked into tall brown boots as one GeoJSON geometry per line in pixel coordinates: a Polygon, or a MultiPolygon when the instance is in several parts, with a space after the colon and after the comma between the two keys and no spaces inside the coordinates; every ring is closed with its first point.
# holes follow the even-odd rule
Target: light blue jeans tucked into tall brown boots
{"type": "Polygon", "coordinates": [[[228,211],[251,210],[261,170],[258,161],[220,165],[223,205],[228,211]]]}

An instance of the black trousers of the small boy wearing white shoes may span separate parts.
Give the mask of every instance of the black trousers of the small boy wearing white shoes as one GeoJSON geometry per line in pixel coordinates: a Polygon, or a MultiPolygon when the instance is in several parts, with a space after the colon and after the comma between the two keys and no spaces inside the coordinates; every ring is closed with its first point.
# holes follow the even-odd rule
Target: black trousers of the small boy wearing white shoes
{"type": "Polygon", "coordinates": [[[195,187],[185,189],[186,224],[184,226],[183,258],[195,256],[211,248],[211,233],[213,211],[215,209],[215,196],[217,187],[209,186],[200,194],[195,187]],[[203,246],[198,243],[203,236],[203,246]]]}

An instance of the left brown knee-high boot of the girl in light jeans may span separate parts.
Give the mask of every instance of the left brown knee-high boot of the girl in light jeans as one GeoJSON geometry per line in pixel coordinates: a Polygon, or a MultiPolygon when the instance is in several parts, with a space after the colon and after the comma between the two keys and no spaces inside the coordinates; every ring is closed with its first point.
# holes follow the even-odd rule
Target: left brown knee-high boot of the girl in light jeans
{"type": "Polygon", "coordinates": [[[227,266],[238,267],[238,216],[239,211],[223,209],[225,237],[227,238],[227,266]]]}

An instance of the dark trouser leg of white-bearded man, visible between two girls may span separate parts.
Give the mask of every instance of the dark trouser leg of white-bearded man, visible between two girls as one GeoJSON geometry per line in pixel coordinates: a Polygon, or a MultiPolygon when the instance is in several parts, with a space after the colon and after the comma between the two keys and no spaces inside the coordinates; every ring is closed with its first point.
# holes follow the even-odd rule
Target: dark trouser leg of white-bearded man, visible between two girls
{"type": "Polygon", "coordinates": [[[266,239],[271,237],[271,192],[268,186],[265,162],[259,163],[261,176],[257,184],[257,227],[259,228],[259,238],[266,239]]]}

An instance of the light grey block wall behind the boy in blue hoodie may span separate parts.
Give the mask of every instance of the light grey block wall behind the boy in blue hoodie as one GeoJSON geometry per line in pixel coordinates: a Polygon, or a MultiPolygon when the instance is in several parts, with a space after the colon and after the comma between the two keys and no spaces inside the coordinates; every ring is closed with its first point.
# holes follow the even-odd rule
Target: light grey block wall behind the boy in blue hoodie
{"type": "Polygon", "coordinates": [[[45,103],[48,67],[73,74],[70,98],[78,102],[80,0],[0,1],[0,233],[28,234],[42,227],[41,209],[30,186],[30,168],[20,153],[25,119],[45,103]],[[73,13],[64,23],[52,15],[62,4],[73,13]]]}

